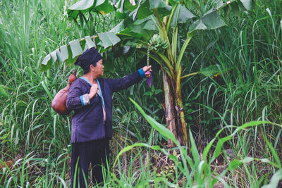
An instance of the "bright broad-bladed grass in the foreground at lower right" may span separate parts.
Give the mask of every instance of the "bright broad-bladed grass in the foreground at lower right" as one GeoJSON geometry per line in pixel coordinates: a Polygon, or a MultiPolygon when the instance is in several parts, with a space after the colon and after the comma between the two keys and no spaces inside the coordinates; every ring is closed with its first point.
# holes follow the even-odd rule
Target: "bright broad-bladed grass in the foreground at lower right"
{"type": "MultiPolygon", "coordinates": [[[[132,99],[130,99],[133,101],[132,99]]],[[[154,187],[214,187],[214,186],[220,186],[224,185],[224,187],[229,187],[235,186],[235,187],[240,187],[240,186],[248,186],[248,187],[262,187],[263,184],[268,182],[269,177],[268,176],[263,176],[260,179],[254,178],[252,175],[252,172],[249,171],[249,166],[252,166],[252,163],[255,163],[256,161],[259,161],[260,163],[264,163],[265,166],[275,167],[278,170],[274,173],[274,176],[271,177],[271,180],[268,185],[269,187],[277,187],[279,180],[281,180],[281,161],[280,158],[278,158],[278,154],[274,150],[273,146],[271,143],[264,137],[268,149],[271,150],[271,153],[273,154],[273,160],[269,160],[269,158],[254,158],[254,157],[244,157],[244,156],[238,156],[237,158],[232,158],[230,161],[225,162],[225,168],[219,173],[219,170],[215,170],[212,168],[214,165],[214,161],[216,158],[221,155],[221,153],[224,153],[226,156],[226,151],[223,149],[223,144],[225,142],[228,142],[228,140],[233,139],[235,135],[239,132],[247,132],[247,129],[250,127],[257,127],[257,126],[262,126],[262,125],[267,125],[267,126],[277,126],[277,127],[282,127],[282,125],[277,125],[274,123],[266,122],[266,121],[254,121],[250,123],[245,123],[242,126],[235,127],[235,130],[232,132],[232,134],[219,138],[219,135],[221,132],[223,132],[224,128],[219,130],[219,132],[216,133],[216,137],[212,139],[209,144],[204,148],[204,151],[202,155],[200,155],[197,146],[195,144],[194,138],[192,137],[192,132],[190,131],[190,142],[191,142],[191,148],[187,149],[183,146],[180,146],[179,142],[177,139],[173,136],[172,132],[170,132],[164,125],[161,125],[157,123],[154,118],[150,117],[145,113],[145,111],[142,110],[142,108],[135,102],[133,101],[137,109],[142,113],[142,115],[145,117],[145,119],[148,121],[150,125],[154,129],[156,129],[158,132],[160,132],[164,137],[171,139],[174,144],[176,144],[177,148],[176,150],[178,151],[171,153],[169,149],[162,149],[160,146],[152,146],[151,144],[145,144],[145,143],[135,143],[130,146],[126,146],[124,149],[122,149],[119,153],[118,156],[116,157],[116,160],[114,161],[114,166],[118,162],[118,175],[119,178],[121,178],[122,182],[129,182],[130,185],[132,184],[137,184],[145,187],[149,186],[154,186],[154,187]],[[217,143],[215,144],[215,142],[217,143]],[[215,149],[212,149],[212,146],[215,144],[215,149]],[[156,178],[156,171],[152,173],[152,167],[156,164],[151,163],[150,161],[147,161],[147,165],[142,165],[141,171],[143,171],[141,174],[136,174],[138,173],[139,169],[136,169],[135,171],[132,170],[132,165],[135,162],[135,158],[138,158],[140,154],[138,153],[137,156],[133,158],[133,150],[135,147],[146,147],[149,149],[153,149],[156,151],[159,151],[163,153],[164,155],[168,156],[170,161],[173,161],[173,178],[171,178],[170,181],[168,181],[168,177],[165,175],[161,175],[160,177],[156,178]],[[130,158],[130,164],[129,168],[126,168],[126,166],[121,167],[121,163],[119,161],[120,156],[122,156],[125,152],[132,151],[130,158]],[[188,152],[191,153],[191,155],[188,155],[188,152]],[[239,173],[237,173],[235,170],[237,170],[240,166],[244,167],[244,176],[241,176],[239,173]],[[150,170],[151,166],[151,170],[150,170]],[[122,170],[123,169],[123,170],[122,170]],[[128,173],[128,175],[127,175],[128,173]],[[130,173],[130,174],[129,174],[130,173]],[[146,177],[147,175],[147,177],[146,177]],[[239,178],[242,178],[242,181],[245,182],[238,182],[238,175],[239,178]],[[139,177],[139,178],[138,178],[139,177]],[[247,179],[247,180],[243,180],[247,179]],[[125,180],[123,180],[125,179],[125,180]],[[264,183],[263,183],[264,181],[264,183]],[[180,183],[181,182],[181,183],[180,183]]],[[[176,151],[175,150],[175,151],[176,151]]],[[[140,163],[142,161],[146,161],[140,156],[140,163]]],[[[146,163],[146,162],[145,162],[146,163]]],[[[154,168],[153,168],[154,169],[154,168]]],[[[158,170],[159,171],[159,170],[158,170]]],[[[139,172],[140,173],[140,172],[139,172]]],[[[112,178],[114,182],[111,184],[114,184],[119,187],[121,184],[119,184],[118,178],[116,177],[116,174],[112,173],[112,178]]]]}

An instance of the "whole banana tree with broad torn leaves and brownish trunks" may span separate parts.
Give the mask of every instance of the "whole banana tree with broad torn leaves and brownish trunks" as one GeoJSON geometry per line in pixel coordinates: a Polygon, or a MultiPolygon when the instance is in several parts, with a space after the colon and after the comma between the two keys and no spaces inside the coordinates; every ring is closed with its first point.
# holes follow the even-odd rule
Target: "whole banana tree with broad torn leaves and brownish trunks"
{"type": "MultiPolygon", "coordinates": [[[[221,18],[224,11],[229,18],[230,11],[238,13],[252,7],[252,0],[218,1],[217,4],[212,2],[214,1],[82,0],[68,8],[68,18],[75,20],[75,23],[80,21],[80,25],[87,22],[86,14],[95,12],[104,15],[115,11],[121,23],[109,32],[98,34],[97,46],[101,46],[104,51],[115,44],[135,47],[137,52],[148,54],[159,63],[163,73],[166,124],[182,145],[188,144],[188,131],[180,82],[181,78],[189,75],[183,75],[181,62],[190,40],[200,30],[215,30],[225,26],[226,22],[221,18]],[[223,10],[222,13],[219,13],[220,10],[223,10]],[[178,35],[180,24],[188,25],[186,36],[178,35]],[[180,38],[184,38],[184,42],[180,38]]],[[[65,53],[61,52],[61,47],[48,54],[42,62],[42,69],[49,68],[57,60],[66,59],[71,62],[82,54],[82,48],[90,46],[94,46],[90,37],[62,46],[65,53]],[[65,58],[59,57],[60,54],[65,54],[65,58]]],[[[172,146],[172,142],[168,142],[168,146],[172,146]]]]}

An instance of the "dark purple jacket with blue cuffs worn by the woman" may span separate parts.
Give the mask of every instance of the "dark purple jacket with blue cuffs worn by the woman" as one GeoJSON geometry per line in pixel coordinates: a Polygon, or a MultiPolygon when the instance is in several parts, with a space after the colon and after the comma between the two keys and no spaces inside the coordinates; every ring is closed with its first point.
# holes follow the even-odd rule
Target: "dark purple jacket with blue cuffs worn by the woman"
{"type": "Polygon", "coordinates": [[[125,76],[121,79],[110,79],[99,77],[98,81],[101,86],[102,95],[104,97],[106,121],[104,123],[104,115],[102,109],[102,99],[100,96],[94,96],[90,100],[90,105],[82,106],[80,96],[90,92],[90,83],[76,79],[72,84],[66,100],[66,106],[70,110],[74,110],[72,126],[71,126],[71,143],[89,142],[104,137],[111,138],[113,136],[112,127],[112,94],[121,89],[126,89],[133,84],[139,82],[144,77],[142,69],[137,72],[125,76]]]}

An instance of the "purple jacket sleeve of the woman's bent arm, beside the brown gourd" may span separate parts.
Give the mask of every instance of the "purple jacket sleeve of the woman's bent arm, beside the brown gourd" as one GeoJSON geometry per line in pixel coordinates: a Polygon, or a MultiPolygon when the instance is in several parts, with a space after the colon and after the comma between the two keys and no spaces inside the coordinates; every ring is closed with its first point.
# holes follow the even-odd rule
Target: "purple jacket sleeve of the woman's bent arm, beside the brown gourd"
{"type": "Polygon", "coordinates": [[[68,92],[68,98],[66,99],[66,107],[69,110],[77,110],[82,108],[82,90],[78,84],[73,83],[71,84],[70,90],[68,92]]]}

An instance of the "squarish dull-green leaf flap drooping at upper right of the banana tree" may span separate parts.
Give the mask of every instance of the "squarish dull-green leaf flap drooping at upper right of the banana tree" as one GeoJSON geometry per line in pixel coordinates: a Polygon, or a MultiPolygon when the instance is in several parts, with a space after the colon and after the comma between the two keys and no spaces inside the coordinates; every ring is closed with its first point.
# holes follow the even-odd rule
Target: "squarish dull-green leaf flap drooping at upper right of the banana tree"
{"type": "Polygon", "coordinates": [[[205,13],[201,19],[203,20],[204,24],[207,25],[209,30],[214,30],[226,25],[216,10],[211,10],[205,13]]]}

